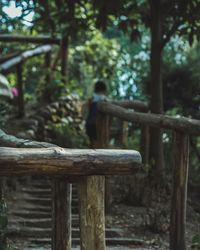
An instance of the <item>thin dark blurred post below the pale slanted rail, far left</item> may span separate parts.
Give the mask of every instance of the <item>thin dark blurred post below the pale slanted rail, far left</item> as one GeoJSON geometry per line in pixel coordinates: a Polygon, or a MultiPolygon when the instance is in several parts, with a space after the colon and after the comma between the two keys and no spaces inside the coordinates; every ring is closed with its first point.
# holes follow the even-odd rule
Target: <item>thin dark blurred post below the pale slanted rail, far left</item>
{"type": "Polygon", "coordinates": [[[17,89],[18,89],[18,115],[24,116],[24,89],[23,89],[23,74],[22,63],[17,65],[17,89]]]}

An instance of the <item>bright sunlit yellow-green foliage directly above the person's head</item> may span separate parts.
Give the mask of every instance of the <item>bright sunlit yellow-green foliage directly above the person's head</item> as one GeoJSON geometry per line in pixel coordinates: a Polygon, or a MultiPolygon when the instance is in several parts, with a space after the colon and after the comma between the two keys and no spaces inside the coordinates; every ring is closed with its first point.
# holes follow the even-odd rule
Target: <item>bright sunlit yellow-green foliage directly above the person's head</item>
{"type": "Polygon", "coordinates": [[[69,78],[73,90],[82,89],[82,95],[91,95],[97,79],[111,82],[118,61],[119,45],[114,39],[106,39],[100,32],[93,31],[83,45],[70,50],[69,78]]]}

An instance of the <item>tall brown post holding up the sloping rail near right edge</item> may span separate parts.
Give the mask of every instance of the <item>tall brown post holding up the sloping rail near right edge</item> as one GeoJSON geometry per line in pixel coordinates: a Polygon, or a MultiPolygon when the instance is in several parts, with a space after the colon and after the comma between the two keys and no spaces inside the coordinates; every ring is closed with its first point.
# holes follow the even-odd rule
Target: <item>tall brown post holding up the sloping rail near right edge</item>
{"type": "Polygon", "coordinates": [[[170,250],[186,250],[185,224],[189,165],[189,136],[174,133],[173,193],[170,221],[170,250]]]}

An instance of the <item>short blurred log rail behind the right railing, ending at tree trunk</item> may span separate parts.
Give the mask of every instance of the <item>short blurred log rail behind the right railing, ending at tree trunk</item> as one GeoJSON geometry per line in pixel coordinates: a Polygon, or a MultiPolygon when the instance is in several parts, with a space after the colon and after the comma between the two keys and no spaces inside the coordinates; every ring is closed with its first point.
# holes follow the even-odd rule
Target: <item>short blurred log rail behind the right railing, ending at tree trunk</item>
{"type": "Polygon", "coordinates": [[[149,105],[146,102],[142,101],[111,101],[112,104],[121,106],[123,108],[135,109],[141,112],[147,112],[149,110],[149,105]]]}

